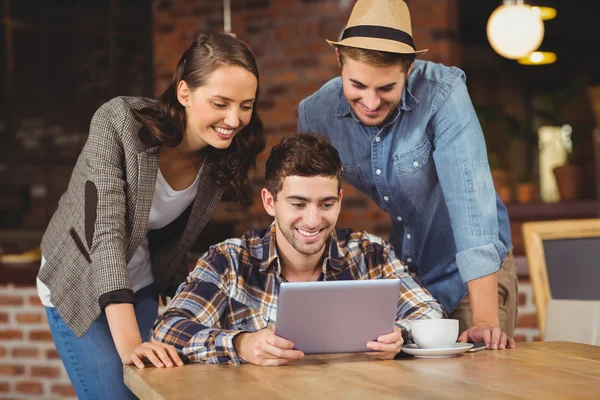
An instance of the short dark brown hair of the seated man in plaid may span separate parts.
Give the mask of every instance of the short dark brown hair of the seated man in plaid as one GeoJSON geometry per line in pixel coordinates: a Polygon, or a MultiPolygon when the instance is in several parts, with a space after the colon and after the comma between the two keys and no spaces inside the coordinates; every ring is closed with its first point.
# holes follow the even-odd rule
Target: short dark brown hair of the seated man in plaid
{"type": "Polygon", "coordinates": [[[342,187],[342,161],[329,141],[316,133],[298,133],[285,137],[273,147],[267,159],[266,187],[273,197],[288,176],[325,176],[336,178],[342,187]]]}

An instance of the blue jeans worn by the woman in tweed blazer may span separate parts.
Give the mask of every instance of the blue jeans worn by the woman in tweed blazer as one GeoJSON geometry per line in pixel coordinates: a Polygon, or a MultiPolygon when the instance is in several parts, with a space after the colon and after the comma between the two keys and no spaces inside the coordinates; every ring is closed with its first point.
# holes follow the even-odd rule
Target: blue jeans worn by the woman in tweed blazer
{"type": "MultiPolygon", "coordinates": [[[[138,290],[135,297],[135,317],[142,340],[146,341],[158,317],[154,284],[138,290]]],[[[56,309],[46,307],[46,314],[56,349],[78,399],[136,399],[123,382],[123,363],[110,334],[106,314],[102,313],[80,338],[56,309]]]]}

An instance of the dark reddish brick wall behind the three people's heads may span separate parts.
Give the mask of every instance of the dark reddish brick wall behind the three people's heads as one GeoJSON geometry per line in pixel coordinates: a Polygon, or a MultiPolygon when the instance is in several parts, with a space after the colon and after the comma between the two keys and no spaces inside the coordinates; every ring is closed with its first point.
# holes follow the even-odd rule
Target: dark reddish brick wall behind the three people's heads
{"type": "MultiPolygon", "coordinates": [[[[223,30],[222,2],[187,0],[154,2],[155,95],[171,81],[181,54],[199,33],[223,30]]],[[[456,0],[409,1],[413,36],[419,48],[429,48],[425,59],[459,65],[456,0]]],[[[270,148],[296,130],[300,100],[339,73],[335,53],[325,38],[337,39],[354,1],[351,0],[232,0],[231,27],[253,49],[260,80],[257,109],[267,133],[267,150],[254,177],[260,188],[264,161],[270,148]]],[[[270,222],[256,191],[256,201],[236,227],[241,233],[270,222]]],[[[353,227],[387,237],[389,217],[368,197],[344,185],[344,205],[339,227],[353,227]]]]}

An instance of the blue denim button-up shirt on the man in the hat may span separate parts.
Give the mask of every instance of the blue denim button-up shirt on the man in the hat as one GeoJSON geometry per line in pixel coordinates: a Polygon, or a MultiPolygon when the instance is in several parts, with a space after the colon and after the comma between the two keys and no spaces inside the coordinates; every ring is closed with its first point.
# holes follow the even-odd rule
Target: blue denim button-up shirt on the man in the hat
{"type": "Polygon", "coordinates": [[[298,109],[298,131],[329,138],[343,179],[390,215],[396,254],[447,313],[465,282],[497,272],[512,247],[465,80],[458,68],[416,60],[380,127],[360,122],[339,77],[298,109]]]}

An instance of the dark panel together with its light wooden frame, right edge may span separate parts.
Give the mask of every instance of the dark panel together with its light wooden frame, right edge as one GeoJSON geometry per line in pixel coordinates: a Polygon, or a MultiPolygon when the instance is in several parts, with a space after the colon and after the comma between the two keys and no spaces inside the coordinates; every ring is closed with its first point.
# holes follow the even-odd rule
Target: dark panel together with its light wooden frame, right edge
{"type": "Polygon", "coordinates": [[[544,337],[550,299],[600,300],[600,219],[526,222],[523,239],[544,337]]]}

